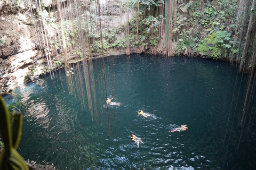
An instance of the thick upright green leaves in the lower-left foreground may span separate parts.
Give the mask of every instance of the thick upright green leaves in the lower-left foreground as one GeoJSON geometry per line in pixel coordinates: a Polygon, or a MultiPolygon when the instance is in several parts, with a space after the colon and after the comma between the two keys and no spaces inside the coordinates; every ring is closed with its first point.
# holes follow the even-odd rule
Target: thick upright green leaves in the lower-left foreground
{"type": "Polygon", "coordinates": [[[0,157],[0,169],[28,169],[24,159],[17,152],[22,129],[22,115],[20,112],[12,113],[12,130],[10,113],[0,96],[0,132],[4,142],[4,149],[0,157]]]}

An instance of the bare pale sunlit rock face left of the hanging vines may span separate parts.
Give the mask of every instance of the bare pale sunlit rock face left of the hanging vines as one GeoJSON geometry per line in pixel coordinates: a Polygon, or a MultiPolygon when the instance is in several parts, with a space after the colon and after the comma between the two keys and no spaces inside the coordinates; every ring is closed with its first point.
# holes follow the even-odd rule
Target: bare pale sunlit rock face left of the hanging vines
{"type": "MultiPolygon", "coordinates": [[[[45,1],[49,5],[52,2],[45,1]]],[[[41,37],[36,35],[33,18],[26,8],[26,2],[23,3],[19,8],[11,8],[10,4],[0,0],[0,95],[2,96],[30,79],[49,73],[45,56],[37,50],[37,40],[41,37]]],[[[47,33],[55,36],[52,30],[47,33]]],[[[57,69],[61,65],[53,64],[53,68],[57,69]]]]}

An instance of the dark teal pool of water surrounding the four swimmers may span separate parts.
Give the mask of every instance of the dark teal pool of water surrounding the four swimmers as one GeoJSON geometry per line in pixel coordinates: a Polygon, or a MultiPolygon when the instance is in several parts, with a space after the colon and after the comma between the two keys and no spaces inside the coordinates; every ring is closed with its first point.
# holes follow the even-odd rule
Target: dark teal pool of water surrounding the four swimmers
{"type": "Polygon", "coordinates": [[[249,128],[239,126],[248,75],[235,66],[182,56],[122,55],[105,58],[105,76],[102,58],[93,61],[93,69],[93,116],[85,82],[83,108],[78,81],[74,76],[69,94],[63,69],[54,79],[45,75],[5,96],[7,104],[23,106],[17,105],[24,117],[18,151],[25,160],[58,169],[255,167],[255,105],[246,118],[249,128]],[[106,95],[121,105],[104,107],[106,95]],[[153,116],[138,116],[139,109],[153,116]],[[188,130],[168,132],[181,124],[188,130]],[[134,145],[131,134],[144,144],[134,145]]]}

